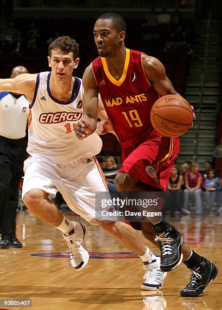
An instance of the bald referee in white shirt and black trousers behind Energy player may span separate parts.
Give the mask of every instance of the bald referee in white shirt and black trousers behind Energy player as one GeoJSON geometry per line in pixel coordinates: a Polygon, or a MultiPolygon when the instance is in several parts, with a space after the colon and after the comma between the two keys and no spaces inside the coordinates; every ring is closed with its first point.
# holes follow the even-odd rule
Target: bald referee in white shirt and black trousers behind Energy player
{"type": "MultiPolygon", "coordinates": [[[[23,66],[12,70],[11,78],[28,73],[23,66]]],[[[0,234],[1,249],[21,248],[16,238],[18,187],[26,153],[26,125],[29,102],[25,95],[0,92],[0,234]]]]}

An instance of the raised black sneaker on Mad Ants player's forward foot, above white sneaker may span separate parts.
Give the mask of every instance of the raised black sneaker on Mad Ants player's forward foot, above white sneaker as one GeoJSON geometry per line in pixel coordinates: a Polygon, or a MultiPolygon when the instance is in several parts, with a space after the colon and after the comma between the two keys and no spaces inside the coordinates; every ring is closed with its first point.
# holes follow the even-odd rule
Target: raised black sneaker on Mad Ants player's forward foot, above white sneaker
{"type": "Polygon", "coordinates": [[[181,246],[183,238],[180,232],[167,222],[153,225],[156,230],[155,241],[159,242],[161,250],[160,269],[169,272],[176,268],[183,259],[181,246]]]}

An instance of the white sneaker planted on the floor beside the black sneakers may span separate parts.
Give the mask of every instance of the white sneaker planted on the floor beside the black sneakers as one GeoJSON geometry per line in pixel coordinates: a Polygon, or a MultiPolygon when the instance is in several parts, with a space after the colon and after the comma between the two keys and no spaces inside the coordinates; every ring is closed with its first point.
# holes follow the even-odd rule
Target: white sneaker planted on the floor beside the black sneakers
{"type": "Polygon", "coordinates": [[[141,285],[141,290],[155,291],[162,288],[163,280],[167,273],[160,270],[160,257],[150,260],[147,264],[143,263],[146,273],[143,277],[145,281],[141,285]]]}

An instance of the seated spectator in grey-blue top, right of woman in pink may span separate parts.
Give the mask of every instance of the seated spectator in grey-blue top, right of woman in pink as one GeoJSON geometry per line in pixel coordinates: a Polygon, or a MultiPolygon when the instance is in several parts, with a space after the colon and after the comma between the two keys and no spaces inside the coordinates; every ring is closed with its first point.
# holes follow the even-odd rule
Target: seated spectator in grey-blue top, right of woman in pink
{"type": "Polygon", "coordinates": [[[206,190],[207,203],[213,204],[216,201],[216,190],[219,185],[219,178],[216,177],[215,171],[210,169],[207,171],[207,178],[204,183],[206,190]]]}

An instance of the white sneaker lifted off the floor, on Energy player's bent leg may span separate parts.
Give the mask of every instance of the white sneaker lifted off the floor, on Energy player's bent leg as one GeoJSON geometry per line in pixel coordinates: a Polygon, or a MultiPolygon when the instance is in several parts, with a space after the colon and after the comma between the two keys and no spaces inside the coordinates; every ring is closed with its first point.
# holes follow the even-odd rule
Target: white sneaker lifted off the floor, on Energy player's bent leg
{"type": "Polygon", "coordinates": [[[74,222],[75,228],[68,234],[63,234],[70,252],[71,265],[77,271],[85,268],[89,260],[89,253],[83,245],[87,238],[87,227],[80,223],[74,222]]]}

